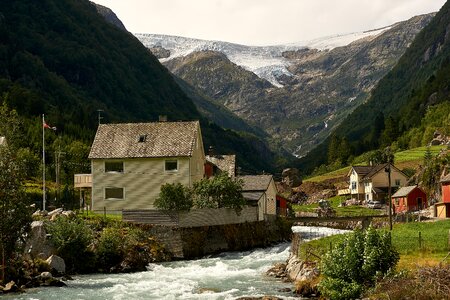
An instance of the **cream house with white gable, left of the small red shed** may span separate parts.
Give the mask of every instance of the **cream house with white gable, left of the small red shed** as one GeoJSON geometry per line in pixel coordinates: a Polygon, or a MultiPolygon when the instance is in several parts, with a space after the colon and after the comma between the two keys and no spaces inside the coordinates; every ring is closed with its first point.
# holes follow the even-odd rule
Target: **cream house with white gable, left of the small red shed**
{"type": "MultiPolygon", "coordinates": [[[[352,198],[360,201],[383,200],[388,195],[388,172],[389,164],[375,166],[352,166],[348,177],[350,177],[349,190],[352,198]]],[[[408,177],[398,168],[390,164],[391,188],[396,191],[406,184],[408,177]]]]}

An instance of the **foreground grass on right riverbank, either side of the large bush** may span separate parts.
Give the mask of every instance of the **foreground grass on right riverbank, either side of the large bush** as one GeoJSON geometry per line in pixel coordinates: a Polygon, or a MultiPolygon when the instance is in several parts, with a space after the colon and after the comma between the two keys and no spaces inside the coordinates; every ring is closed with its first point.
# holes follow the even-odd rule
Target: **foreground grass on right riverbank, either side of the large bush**
{"type": "MultiPolygon", "coordinates": [[[[318,260],[309,253],[322,256],[330,249],[330,244],[342,238],[343,235],[335,235],[305,243],[299,255],[303,259],[318,260]]],[[[441,262],[450,250],[449,238],[450,220],[394,224],[392,243],[400,253],[399,267],[414,268],[441,262]]]]}

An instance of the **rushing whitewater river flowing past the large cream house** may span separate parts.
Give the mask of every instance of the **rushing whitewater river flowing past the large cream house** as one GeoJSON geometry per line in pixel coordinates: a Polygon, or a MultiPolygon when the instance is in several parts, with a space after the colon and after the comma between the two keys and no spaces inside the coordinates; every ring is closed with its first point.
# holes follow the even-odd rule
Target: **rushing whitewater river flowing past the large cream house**
{"type": "MultiPolygon", "coordinates": [[[[295,226],[294,232],[312,238],[340,233],[328,228],[295,226]]],[[[75,276],[63,288],[30,289],[25,294],[5,299],[235,299],[242,296],[273,295],[298,299],[292,288],[268,277],[265,272],[274,263],[289,256],[290,243],[265,249],[230,252],[197,260],[151,264],[148,271],[132,274],[75,276]]]]}

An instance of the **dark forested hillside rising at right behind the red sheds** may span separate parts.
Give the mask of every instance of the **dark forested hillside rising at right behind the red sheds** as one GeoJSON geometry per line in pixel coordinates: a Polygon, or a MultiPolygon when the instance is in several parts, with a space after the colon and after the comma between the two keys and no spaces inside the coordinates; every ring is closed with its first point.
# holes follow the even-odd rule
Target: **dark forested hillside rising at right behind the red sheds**
{"type": "Polygon", "coordinates": [[[370,99],[303,158],[301,165],[311,171],[321,164],[333,163],[327,155],[330,150],[340,153],[335,159],[346,161],[380,147],[406,149],[430,142],[434,130],[445,129],[442,125],[448,115],[442,112],[450,100],[449,84],[450,3],[447,2],[416,36],[393,70],[380,80],[370,99]],[[424,118],[427,112],[428,118],[424,118]],[[341,145],[342,149],[329,149],[333,139],[333,144],[341,145]],[[340,151],[343,148],[347,151],[340,151]]]}

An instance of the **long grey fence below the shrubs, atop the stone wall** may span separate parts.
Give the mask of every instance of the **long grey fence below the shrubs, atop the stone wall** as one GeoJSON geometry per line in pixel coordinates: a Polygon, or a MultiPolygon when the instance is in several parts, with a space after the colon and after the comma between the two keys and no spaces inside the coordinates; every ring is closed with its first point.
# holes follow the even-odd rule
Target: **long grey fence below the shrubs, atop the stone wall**
{"type": "Polygon", "coordinates": [[[244,207],[238,212],[230,208],[205,208],[179,213],[160,210],[123,210],[122,219],[127,222],[178,227],[216,226],[258,221],[258,208],[244,207]]]}

